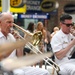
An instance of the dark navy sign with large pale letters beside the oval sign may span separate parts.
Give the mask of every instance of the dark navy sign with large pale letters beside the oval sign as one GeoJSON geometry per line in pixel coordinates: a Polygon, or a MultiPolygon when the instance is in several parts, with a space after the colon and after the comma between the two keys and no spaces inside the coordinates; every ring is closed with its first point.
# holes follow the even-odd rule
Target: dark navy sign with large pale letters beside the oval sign
{"type": "Polygon", "coordinates": [[[42,12],[40,8],[40,4],[43,0],[27,0],[26,7],[27,13],[39,13],[42,12]]]}

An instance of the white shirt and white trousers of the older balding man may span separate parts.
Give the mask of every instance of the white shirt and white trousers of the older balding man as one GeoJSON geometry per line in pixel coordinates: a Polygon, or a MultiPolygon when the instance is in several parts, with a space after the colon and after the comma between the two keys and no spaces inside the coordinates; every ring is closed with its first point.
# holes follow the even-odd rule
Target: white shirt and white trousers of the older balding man
{"type": "MultiPolygon", "coordinates": [[[[6,38],[0,32],[0,44],[5,43],[5,42],[12,42],[12,41],[15,41],[15,38],[13,37],[12,34],[9,33],[6,38]]],[[[12,58],[14,56],[16,56],[16,50],[14,50],[8,57],[12,58]]],[[[43,70],[41,68],[26,67],[25,66],[24,68],[14,69],[13,75],[49,75],[49,72],[47,70],[43,70]]]]}

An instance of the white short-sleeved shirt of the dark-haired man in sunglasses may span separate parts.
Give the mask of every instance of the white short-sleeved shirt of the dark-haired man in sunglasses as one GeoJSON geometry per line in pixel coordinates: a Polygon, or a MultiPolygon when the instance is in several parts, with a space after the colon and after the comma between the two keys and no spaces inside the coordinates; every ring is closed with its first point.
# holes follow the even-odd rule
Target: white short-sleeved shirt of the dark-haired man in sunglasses
{"type": "MultiPolygon", "coordinates": [[[[52,46],[52,49],[53,49],[53,52],[58,52],[64,48],[67,47],[67,45],[69,44],[69,42],[73,39],[73,36],[71,34],[64,34],[62,32],[62,30],[59,30],[53,37],[52,37],[52,40],[51,40],[51,46],[52,46]]],[[[69,60],[69,55],[71,53],[73,48],[71,48],[71,50],[66,54],[66,56],[61,59],[61,60],[58,60],[56,57],[55,57],[55,61],[57,64],[62,64],[62,63],[66,63],[69,60]]]]}

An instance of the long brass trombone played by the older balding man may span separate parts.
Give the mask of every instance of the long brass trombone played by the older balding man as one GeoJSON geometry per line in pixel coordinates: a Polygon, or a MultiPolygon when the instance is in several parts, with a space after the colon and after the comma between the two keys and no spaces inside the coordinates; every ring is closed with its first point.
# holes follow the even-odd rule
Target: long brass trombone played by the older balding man
{"type": "MultiPolygon", "coordinates": [[[[30,35],[30,36],[33,36],[33,43],[30,43],[30,42],[28,42],[28,44],[27,44],[27,46],[28,46],[28,48],[30,48],[35,54],[43,54],[39,49],[37,49],[35,46],[36,45],[38,45],[39,43],[40,43],[40,41],[41,41],[41,39],[42,39],[42,33],[39,31],[39,32],[36,32],[36,33],[34,33],[34,34],[32,34],[32,33],[30,33],[30,32],[28,32],[28,31],[26,31],[25,29],[23,29],[22,27],[20,27],[20,26],[18,26],[17,24],[13,24],[17,29],[19,29],[19,30],[21,30],[22,32],[24,32],[25,34],[28,34],[28,35],[30,35]],[[30,46],[32,46],[34,49],[32,49],[30,46]],[[39,53],[38,53],[39,52],[39,53]]],[[[20,36],[20,35],[19,35],[20,36]]],[[[24,39],[22,36],[20,36],[21,37],[21,39],[24,39]]],[[[52,66],[53,67],[53,69],[54,70],[56,70],[56,72],[58,73],[59,71],[60,71],[60,68],[59,68],[59,66],[54,62],[54,61],[52,61],[52,59],[50,59],[49,57],[46,57],[47,59],[43,59],[47,64],[49,64],[50,66],[52,66]],[[50,62],[52,62],[54,65],[52,65],[50,62]]]]}

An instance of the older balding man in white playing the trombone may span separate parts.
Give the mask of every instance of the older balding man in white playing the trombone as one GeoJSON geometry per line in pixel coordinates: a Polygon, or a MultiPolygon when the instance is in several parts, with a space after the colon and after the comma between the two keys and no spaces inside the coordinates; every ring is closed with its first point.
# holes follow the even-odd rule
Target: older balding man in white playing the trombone
{"type": "MultiPolygon", "coordinates": [[[[3,12],[0,14],[0,28],[1,28],[0,44],[11,42],[11,41],[16,41],[14,36],[10,33],[11,31],[10,29],[13,27],[13,22],[14,22],[14,19],[11,13],[3,12]]],[[[27,43],[28,41],[31,41],[31,37],[27,36],[27,38],[25,38],[25,42],[27,43]]],[[[0,55],[0,60],[5,59],[5,58],[17,57],[16,53],[18,54],[19,57],[23,55],[22,50],[15,49],[12,52],[5,51],[3,55],[0,55]]],[[[13,70],[12,72],[14,75],[49,75],[49,72],[47,70],[43,70],[43,69],[35,68],[35,67],[19,68],[19,69],[13,70]]],[[[7,73],[7,75],[8,74],[9,73],[7,73]]]]}

